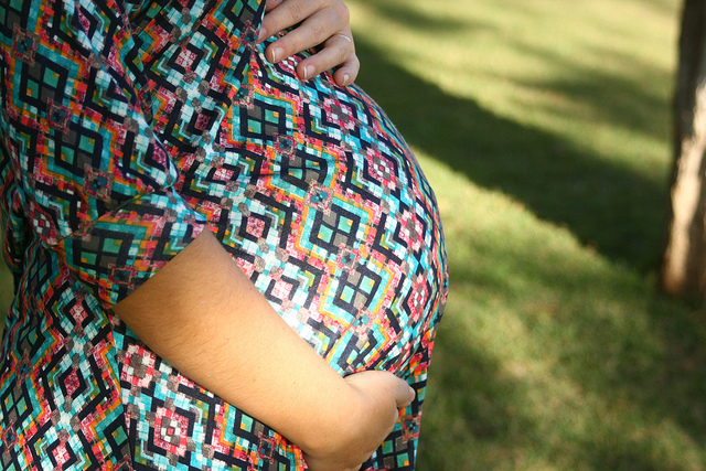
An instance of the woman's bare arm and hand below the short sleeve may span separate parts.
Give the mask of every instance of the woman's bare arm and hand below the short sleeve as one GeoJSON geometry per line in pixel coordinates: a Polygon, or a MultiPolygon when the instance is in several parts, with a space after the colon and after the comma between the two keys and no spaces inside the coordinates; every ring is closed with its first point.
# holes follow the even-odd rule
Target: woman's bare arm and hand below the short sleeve
{"type": "Polygon", "coordinates": [[[299,446],[312,471],[357,470],[415,397],[387,372],[339,376],[208,231],[114,310],[181,373],[299,446]]]}

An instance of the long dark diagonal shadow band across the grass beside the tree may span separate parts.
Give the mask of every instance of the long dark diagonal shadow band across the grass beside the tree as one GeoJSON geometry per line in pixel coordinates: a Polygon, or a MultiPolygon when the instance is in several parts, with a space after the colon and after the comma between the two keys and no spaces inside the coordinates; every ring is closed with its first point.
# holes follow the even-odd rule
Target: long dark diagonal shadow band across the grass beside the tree
{"type": "Polygon", "coordinates": [[[607,257],[641,271],[654,268],[665,185],[448,95],[386,61],[362,39],[356,47],[357,83],[393,116],[411,146],[479,185],[514,196],[538,217],[567,226],[607,257]]]}

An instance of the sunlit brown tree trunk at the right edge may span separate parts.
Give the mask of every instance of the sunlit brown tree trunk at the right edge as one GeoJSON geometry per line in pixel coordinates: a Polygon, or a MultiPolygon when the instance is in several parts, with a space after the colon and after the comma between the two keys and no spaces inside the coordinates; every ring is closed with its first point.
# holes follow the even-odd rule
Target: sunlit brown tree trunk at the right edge
{"type": "Polygon", "coordinates": [[[661,287],[703,297],[706,288],[706,0],[685,0],[674,100],[674,170],[661,287]]]}

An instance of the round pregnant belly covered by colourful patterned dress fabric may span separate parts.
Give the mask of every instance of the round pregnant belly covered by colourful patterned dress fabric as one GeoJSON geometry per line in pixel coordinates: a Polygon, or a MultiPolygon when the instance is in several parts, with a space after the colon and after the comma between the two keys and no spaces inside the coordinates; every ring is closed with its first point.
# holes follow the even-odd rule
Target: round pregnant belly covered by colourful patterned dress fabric
{"type": "Polygon", "coordinates": [[[254,54],[181,193],[282,318],[341,373],[398,371],[446,283],[434,194],[384,113],[254,54]]]}

